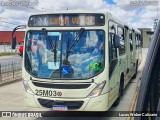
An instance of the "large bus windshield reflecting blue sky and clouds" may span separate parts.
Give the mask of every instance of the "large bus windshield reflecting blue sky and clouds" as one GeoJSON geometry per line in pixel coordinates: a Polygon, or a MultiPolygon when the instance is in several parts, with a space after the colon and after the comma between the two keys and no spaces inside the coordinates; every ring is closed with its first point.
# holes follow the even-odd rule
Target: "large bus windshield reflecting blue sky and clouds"
{"type": "Polygon", "coordinates": [[[38,78],[87,79],[104,68],[104,31],[28,31],[25,68],[38,78]],[[73,45],[74,44],[74,45],[73,45]]]}

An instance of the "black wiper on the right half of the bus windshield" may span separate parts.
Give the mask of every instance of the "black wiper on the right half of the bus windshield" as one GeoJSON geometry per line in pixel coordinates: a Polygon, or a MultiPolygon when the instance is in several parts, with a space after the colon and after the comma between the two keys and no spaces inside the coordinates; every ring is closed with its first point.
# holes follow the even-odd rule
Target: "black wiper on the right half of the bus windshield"
{"type": "Polygon", "coordinates": [[[67,41],[67,50],[66,50],[66,60],[68,60],[68,54],[71,52],[71,50],[76,46],[76,44],[79,42],[82,34],[84,33],[85,28],[81,28],[78,32],[78,34],[75,36],[71,46],[69,47],[69,38],[67,41]]]}

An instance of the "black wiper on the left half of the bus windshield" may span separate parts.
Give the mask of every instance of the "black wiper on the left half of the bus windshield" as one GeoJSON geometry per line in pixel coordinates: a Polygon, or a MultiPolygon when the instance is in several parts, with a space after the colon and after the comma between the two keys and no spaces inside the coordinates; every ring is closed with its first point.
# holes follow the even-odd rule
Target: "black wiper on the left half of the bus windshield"
{"type": "Polygon", "coordinates": [[[55,40],[54,46],[52,44],[52,40],[50,37],[47,36],[47,31],[45,28],[42,28],[42,31],[44,33],[44,36],[46,37],[46,40],[49,41],[49,44],[51,45],[51,51],[54,53],[54,64],[56,66],[56,60],[57,60],[57,41],[55,40]]]}

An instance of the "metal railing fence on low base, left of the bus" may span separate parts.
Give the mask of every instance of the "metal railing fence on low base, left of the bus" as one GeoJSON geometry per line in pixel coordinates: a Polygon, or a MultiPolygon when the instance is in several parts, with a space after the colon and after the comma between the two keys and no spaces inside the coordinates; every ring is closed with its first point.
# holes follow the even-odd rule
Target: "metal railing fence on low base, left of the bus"
{"type": "Polygon", "coordinates": [[[22,78],[22,61],[0,63],[0,84],[22,78]]]}

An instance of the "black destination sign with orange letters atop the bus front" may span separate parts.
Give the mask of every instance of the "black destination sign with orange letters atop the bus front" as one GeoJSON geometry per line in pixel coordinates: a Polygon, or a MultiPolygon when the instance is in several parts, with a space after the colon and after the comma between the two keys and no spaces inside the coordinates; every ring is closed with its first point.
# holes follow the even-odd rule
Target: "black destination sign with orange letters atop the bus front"
{"type": "Polygon", "coordinates": [[[78,27],[103,26],[103,14],[48,14],[33,15],[29,18],[29,27],[78,27]]]}

